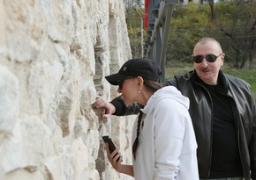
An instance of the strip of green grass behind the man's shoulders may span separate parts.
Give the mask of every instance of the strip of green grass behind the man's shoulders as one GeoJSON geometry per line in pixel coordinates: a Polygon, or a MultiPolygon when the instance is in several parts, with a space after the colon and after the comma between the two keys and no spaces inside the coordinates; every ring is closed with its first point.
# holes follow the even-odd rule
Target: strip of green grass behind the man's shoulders
{"type": "MultiPolygon", "coordinates": [[[[254,63],[255,64],[255,63],[254,63]]],[[[192,63],[187,62],[171,62],[167,65],[165,70],[166,79],[171,79],[174,75],[184,74],[189,70],[193,69],[192,63]]],[[[227,62],[224,63],[222,67],[222,72],[229,74],[231,76],[237,76],[241,79],[244,79],[247,83],[251,85],[254,98],[256,98],[256,68],[255,66],[252,69],[244,68],[237,69],[233,68],[232,64],[227,62]]]]}

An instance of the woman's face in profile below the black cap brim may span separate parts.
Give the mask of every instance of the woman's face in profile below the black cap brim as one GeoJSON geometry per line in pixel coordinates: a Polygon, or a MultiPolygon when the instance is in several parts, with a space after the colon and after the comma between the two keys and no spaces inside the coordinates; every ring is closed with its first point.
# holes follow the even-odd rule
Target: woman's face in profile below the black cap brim
{"type": "Polygon", "coordinates": [[[137,77],[127,78],[119,83],[118,93],[122,93],[125,104],[138,103],[139,81],[137,77]]]}

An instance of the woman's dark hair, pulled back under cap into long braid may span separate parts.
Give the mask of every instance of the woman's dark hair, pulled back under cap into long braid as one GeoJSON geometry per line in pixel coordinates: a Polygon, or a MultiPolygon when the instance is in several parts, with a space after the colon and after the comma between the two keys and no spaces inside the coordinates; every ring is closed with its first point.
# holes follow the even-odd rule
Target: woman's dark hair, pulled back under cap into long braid
{"type": "MultiPolygon", "coordinates": [[[[151,80],[144,80],[144,85],[147,87],[148,90],[152,91],[153,93],[156,90],[159,90],[162,88],[162,83],[154,82],[151,80]]],[[[140,129],[142,115],[143,115],[143,112],[139,111],[138,124],[137,124],[137,135],[136,135],[136,139],[134,140],[134,143],[132,145],[132,155],[133,155],[134,159],[136,159],[136,150],[139,146],[139,129],[140,129]]]]}

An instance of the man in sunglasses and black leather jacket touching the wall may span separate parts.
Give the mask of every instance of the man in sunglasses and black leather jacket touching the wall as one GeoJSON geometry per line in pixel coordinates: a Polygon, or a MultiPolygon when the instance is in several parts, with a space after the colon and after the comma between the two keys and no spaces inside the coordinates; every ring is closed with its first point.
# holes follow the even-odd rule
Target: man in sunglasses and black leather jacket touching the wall
{"type": "MultiPolygon", "coordinates": [[[[175,76],[174,85],[190,99],[190,115],[198,142],[200,179],[256,180],[256,107],[245,81],[222,73],[225,54],[218,41],[201,39],[193,49],[194,70],[175,76]]],[[[121,97],[107,103],[101,97],[94,108],[110,114],[138,112],[121,97]]]]}

